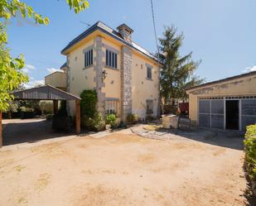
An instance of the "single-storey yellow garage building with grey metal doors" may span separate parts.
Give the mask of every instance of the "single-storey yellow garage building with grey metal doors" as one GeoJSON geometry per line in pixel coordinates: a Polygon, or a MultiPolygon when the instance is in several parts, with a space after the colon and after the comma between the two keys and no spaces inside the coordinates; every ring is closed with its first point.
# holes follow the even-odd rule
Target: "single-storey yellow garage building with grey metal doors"
{"type": "Polygon", "coordinates": [[[244,131],[256,123],[256,71],[187,89],[192,126],[244,131]]]}

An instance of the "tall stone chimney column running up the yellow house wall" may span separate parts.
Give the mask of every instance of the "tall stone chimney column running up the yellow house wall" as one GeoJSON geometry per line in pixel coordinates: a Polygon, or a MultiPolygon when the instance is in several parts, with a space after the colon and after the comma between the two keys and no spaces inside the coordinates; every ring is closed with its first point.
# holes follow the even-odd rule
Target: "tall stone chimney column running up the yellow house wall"
{"type": "Polygon", "coordinates": [[[133,50],[123,46],[121,50],[121,118],[126,122],[128,114],[133,113],[133,50]]]}

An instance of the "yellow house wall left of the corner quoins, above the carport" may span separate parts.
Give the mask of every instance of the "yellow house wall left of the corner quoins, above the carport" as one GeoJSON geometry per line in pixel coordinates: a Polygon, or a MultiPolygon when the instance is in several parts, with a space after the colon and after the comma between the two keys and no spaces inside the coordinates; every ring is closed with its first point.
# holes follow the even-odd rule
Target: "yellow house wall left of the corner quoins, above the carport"
{"type": "MultiPolygon", "coordinates": [[[[94,82],[94,65],[85,68],[85,50],[89,46],[93,46],[94,41],[90,40],[84,45],[79,46],[75,50],[72,50],[69,54],[70,61],[70,93],[73,93],[80,97],[80,93],[85,89],[94,89],[96,86],[94,82]]],[[[94,57],[96,53],[94,51],[94,57]]],[[[95,61],[94,61],[95,64],[95,61]]],[[[70,101],[70,114],[75,115],[75,103],[70,101]]]]}

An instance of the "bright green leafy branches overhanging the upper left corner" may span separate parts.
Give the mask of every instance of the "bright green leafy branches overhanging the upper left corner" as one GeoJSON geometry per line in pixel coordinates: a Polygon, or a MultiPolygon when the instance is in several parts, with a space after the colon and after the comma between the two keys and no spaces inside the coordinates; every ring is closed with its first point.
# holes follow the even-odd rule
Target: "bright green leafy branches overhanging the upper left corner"
{"type": "MultiPolygon", "coordinates": [[[[66,2],[70,10],[74,9],[75,13],[82,12],[89,7],[89,2],[86,0],[66,0],[66,2]]],[[[17,17],[17,13],[21,13],[23,18],[32,18],[37,24],[48,25],[50,23],[47,17],[42,17],[25,2],[0,0],[0,113],[7,110],[9,102],[13,99],[9,92],[28,81],[27,75],[22,73],[25,65],[23,55],[12,59],[7,49],[6,25],[3,22],[17,17]]]]}

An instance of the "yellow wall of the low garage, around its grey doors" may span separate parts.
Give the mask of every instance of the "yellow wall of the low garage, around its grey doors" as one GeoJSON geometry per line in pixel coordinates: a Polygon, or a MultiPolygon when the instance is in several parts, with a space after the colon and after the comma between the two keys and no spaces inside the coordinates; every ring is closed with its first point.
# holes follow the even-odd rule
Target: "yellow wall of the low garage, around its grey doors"
{"type": "Polygon", "coordinates": [[[196,126],[198,121],[198,98],[256,95],[256,74],[220,84],[206,85],[199,89],[189,90],[187,93],[189,94],[191,125],[196,126]]]}

